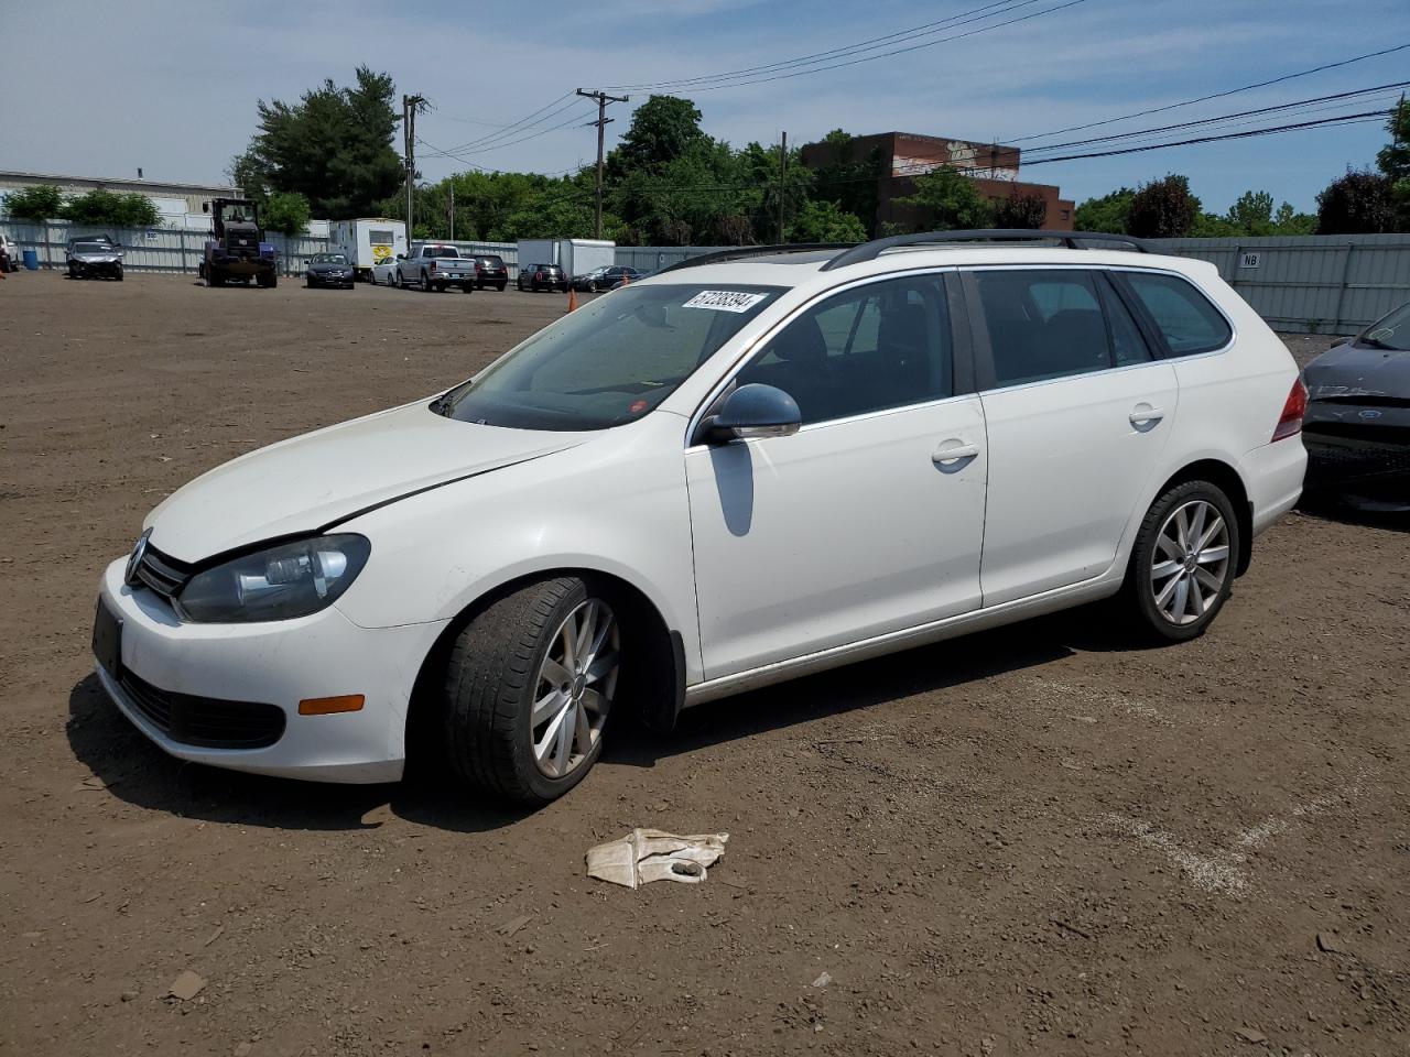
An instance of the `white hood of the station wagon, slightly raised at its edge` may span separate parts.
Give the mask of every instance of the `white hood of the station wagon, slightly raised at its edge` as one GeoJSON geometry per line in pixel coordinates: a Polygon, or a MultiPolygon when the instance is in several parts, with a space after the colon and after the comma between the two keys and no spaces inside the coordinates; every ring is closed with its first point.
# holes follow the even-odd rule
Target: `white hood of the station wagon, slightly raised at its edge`
{"type": "Polygon", "coordinates": [[[186,562],[345,521],[374,506],[581,444],[587,434],[444,419],[429,400],[293,437],[217,466],[147,517],[186,562]]]}

